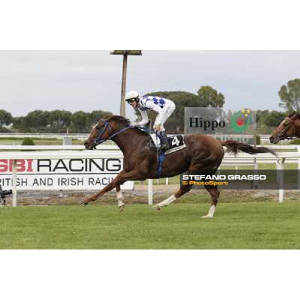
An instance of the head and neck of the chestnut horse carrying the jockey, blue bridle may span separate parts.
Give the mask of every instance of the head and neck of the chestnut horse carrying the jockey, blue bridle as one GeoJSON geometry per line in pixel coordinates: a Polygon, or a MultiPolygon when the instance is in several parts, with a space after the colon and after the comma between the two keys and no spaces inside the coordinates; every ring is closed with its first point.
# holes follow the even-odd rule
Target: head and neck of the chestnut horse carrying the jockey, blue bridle
{"type": "Polygon", "coordinates": [[[85,149],[94,149],[96,145],[129,127],[131,127],[129,120],[122,116],[104,117],[92,127],[87,140],[84,142],[85,149]]]}

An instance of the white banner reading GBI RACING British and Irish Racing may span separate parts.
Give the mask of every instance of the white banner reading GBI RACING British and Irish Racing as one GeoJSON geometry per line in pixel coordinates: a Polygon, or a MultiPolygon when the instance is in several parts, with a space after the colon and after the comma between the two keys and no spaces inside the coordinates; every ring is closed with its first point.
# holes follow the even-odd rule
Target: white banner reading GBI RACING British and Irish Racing
{"type": "MultiPolygon", "coordinates": [[[[100,189],[123,168],[122,158],[17,159],[18,189],[100,189]]],[[[13,161],[0,159],[0,185],[11,188],[13,161]]],[[[127,181],[122,188],[132,188],[127,181]]]]}

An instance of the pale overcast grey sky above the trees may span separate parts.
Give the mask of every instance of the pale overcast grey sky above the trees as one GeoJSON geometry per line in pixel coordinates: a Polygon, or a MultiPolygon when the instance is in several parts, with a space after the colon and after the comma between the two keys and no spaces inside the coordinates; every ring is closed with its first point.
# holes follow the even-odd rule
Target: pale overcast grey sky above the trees
{"type": "MultiPolygon", "coordinates": [[[[122,56],[109,50],[0,51],[0,109],[13,116],[34,109],[119,114],[121,66],[122,56]]],[[[300,51],[143,50],[128,57],[126,89],[196,93],[210,85],[227,109],[279,109],[280,86],[296,77],[300,51]]]]}

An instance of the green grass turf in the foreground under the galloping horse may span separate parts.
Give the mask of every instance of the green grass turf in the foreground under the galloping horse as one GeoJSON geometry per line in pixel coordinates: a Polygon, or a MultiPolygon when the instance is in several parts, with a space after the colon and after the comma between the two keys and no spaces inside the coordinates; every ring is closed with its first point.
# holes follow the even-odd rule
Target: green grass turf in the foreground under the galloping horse
{"type": "Polygon", "coordinates": [[[300,203],[207,203],[0,207],[3,249],[300,248],[300,203]]]}

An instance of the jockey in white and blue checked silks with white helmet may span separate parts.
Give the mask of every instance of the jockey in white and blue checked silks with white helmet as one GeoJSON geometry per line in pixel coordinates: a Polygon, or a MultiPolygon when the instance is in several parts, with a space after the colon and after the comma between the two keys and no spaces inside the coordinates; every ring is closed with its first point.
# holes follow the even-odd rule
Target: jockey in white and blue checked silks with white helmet
{"type": "Polygon", "coordinates": [[[157,112],[153,128],[156,132],[160,132],[160,149],[169,149],[169,144],[167,142],[167,136],[163,124],[175,110],[174,102],[158,96],[144,96],[140,98],[139,94],[135,90],[131,90],[126,94],[125,101],[129,103],[133,108],[137,108],[139,113],[141,114],[141,121],[133,123],[133,125],[144,126],[148,123],[149,118],[147,110],[154,110],[157,112]]]}

